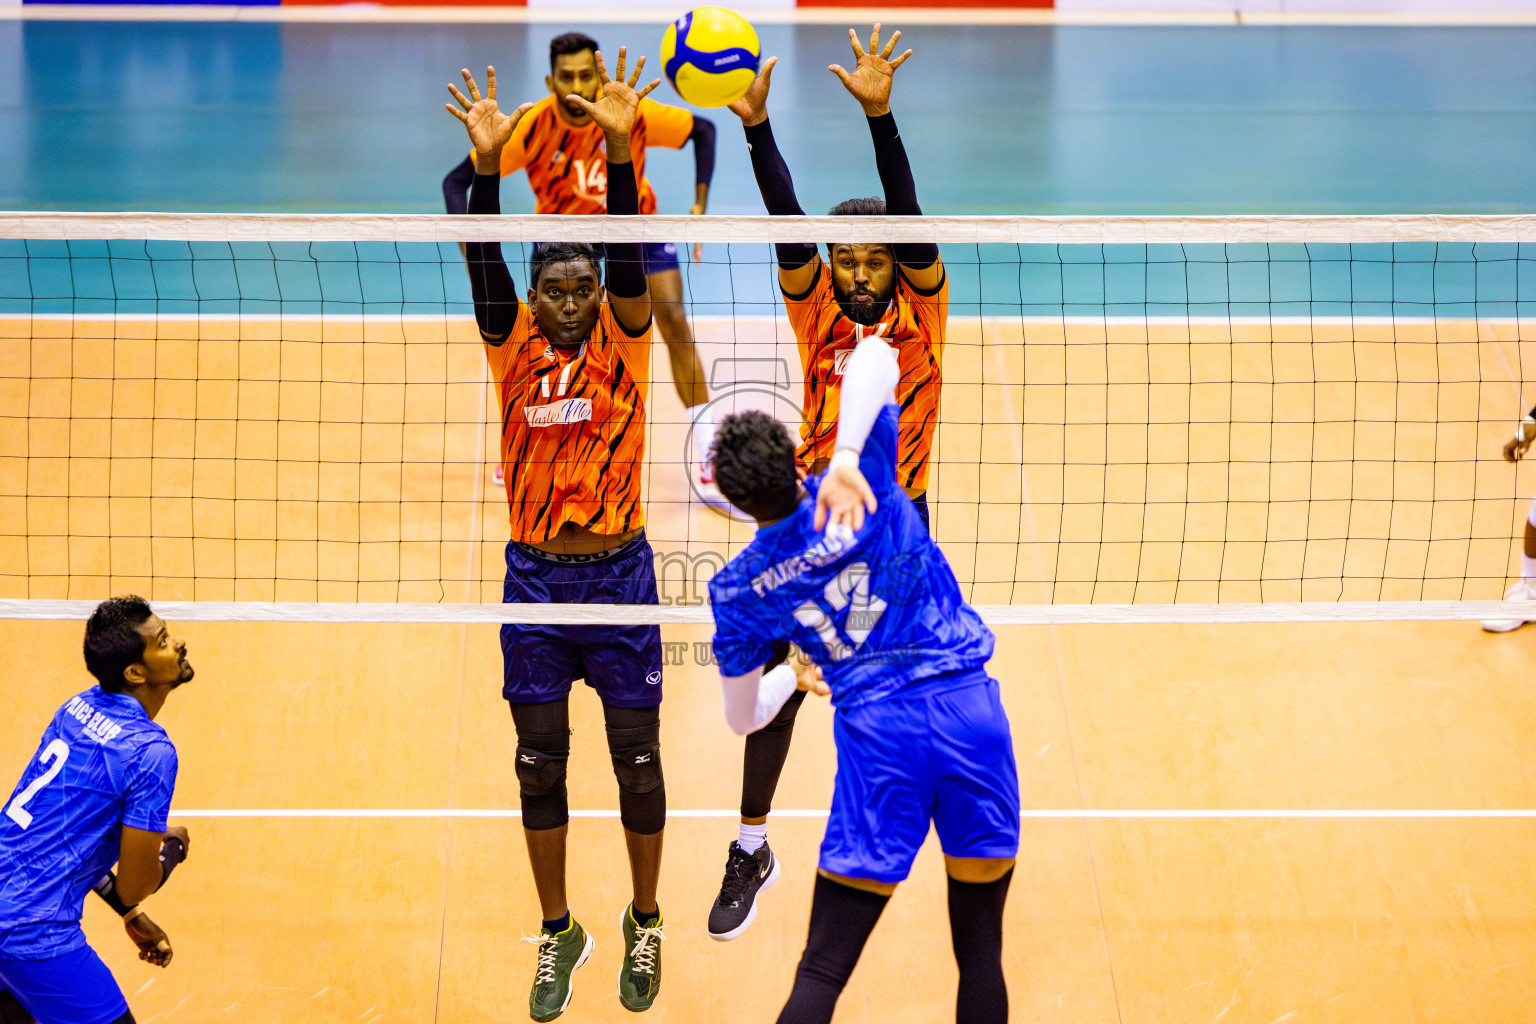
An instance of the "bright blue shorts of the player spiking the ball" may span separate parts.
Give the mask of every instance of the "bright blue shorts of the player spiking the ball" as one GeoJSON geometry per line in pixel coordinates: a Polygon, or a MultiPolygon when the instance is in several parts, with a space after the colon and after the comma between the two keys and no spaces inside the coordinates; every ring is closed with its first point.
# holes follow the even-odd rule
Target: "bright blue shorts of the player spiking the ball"
{"type": "Polygon", "coordinates": [[[906,878],[928,824],[949,857],[1018,855],[1018,769],[997,680],[945,676],[833,715],[822,870],[906,878]]]}

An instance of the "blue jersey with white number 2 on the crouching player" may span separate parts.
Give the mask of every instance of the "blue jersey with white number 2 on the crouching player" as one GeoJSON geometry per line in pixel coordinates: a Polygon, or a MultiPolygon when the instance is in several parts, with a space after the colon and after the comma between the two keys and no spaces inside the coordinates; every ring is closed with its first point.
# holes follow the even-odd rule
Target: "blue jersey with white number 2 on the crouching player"
{"type": "Polygon", "coordinates": [[[84,946],[86,890],[117,863],[123,826],[164,832],[177,748],[127,694],[65,702],[0,811],[0,958],[84,946]]]}

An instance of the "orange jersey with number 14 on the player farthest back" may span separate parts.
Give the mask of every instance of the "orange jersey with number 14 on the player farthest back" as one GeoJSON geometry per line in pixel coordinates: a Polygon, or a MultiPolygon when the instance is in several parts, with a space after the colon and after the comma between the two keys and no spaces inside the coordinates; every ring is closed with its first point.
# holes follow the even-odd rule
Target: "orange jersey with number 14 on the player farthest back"
{"type": "MultiPolygon", "coordinates": [[[[608,157],[602,129],[588,121],[567,124],[554,109],[554,97],[533,104],[511,141],[501,150],[501,177],[528,172],[536,213],[607,213],[608,157]]],[[[630,132],[630,157],[641,186],[641,213],[656,212],[656,192],[645,180],[645,147],[682,149],[693,132],[693,114],[682,107],[641,100],[630,132]]]]}

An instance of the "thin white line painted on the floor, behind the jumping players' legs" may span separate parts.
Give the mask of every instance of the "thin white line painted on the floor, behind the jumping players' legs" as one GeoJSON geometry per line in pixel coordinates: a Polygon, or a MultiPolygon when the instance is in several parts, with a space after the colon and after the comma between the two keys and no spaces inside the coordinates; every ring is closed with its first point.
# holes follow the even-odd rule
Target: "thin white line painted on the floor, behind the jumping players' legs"
{"type": "MultiPolygon", "coordinates": [[[[774,818],[825,818],[828,811],[773,811],[774,818]]],[[[614,811],[571,811],[573,818],[617,818],[614,811]]],[[[499,808],[238,808],[218,811],[170,809],[172,818],[521,818],[521,811],[499,808]]],[[[737,818],[737,809],[667,811],[668,818],[737,818]]],[[[1369,820],[1369,818],[1536,818],[1536,808],[1375,808],[1315,811],[1275,809],[1074,809],[1020,808],[1025,818],[1057,820],[1369,820]]]]}

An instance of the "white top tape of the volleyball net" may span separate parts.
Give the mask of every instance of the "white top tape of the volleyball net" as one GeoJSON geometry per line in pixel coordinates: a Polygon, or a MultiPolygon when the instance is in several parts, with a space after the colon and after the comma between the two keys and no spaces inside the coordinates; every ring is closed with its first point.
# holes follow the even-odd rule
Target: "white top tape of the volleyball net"
{"type": "MultiPolygon", "coordinates": [[[[23,8],[25,9],[25,8],[23,8]]],[[[1364,216],[539,216],[0,212],[0,238],[221,243],[1327,244],[1536,241],[1530,213],[1364,216]],[[748,239],[743,243],[743,239],[748,239]]]]}

